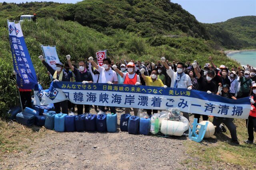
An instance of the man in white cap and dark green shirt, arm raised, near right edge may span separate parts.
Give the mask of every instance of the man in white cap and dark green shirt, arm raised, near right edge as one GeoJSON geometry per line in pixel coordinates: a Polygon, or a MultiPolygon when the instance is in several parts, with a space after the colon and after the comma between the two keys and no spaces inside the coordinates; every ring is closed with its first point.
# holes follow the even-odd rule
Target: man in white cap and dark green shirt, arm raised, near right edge
{"type": "Polygon", "coordinates": [[[240,82],[240,90],[237,94],[238,99],[250,96],[250,86],[252,83],[252,79],[250,79],[250,72],[246,70],[244,72],[244,76],[242,76],[240,69],[241,68],[238,67],[239,82],[240,82]]]}

